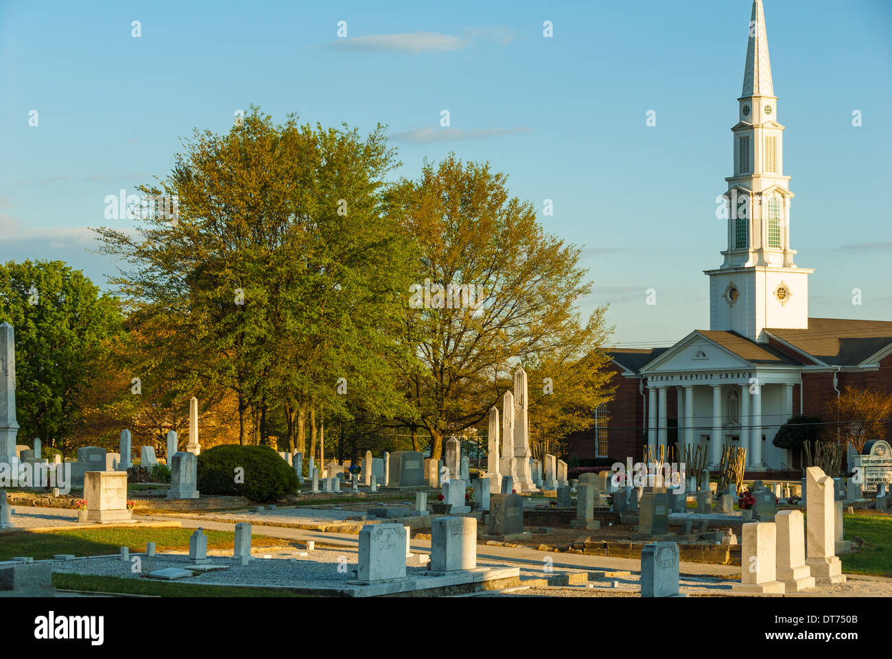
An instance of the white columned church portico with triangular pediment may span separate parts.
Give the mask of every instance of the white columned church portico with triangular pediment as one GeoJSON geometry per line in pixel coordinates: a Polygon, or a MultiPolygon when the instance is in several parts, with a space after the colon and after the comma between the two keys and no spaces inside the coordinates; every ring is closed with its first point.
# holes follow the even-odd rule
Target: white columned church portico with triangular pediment
{"type": "Polygon", "coordinates": [[[647,382],[648,445],[666,446],[667,420],[675,418],[681,451],[676,457],[686,446],[701,443],[715,467],[723,446],[730,444],[747,450],[747,470],[780,467],[788,457],[772,438],[793,415],[800,365],[735,332],[691,332],[641,368],[647,382]],[[674,411],[666,404],[670,388],[674,411]]]}

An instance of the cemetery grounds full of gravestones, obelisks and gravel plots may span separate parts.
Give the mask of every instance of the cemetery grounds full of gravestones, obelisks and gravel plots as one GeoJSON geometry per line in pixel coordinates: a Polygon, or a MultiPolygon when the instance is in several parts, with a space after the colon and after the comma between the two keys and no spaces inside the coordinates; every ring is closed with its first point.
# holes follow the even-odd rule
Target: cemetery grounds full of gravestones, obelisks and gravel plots
{"type": "MultiPolygon", "coordinates": [[[[14,396],[9,379],[4,387],[14,396]]],[[[869,507],[885,496],[873,471],[876,482],[867,487],[875,494],[818,467],[800,482],[743,483],[706,469],[688,478],[632,458],[613,470],[571,473],[555,455],[532,458],[526,395],[526,374],[517,369],[501,414],[490,411],[485,471],[471,470],[456,438],[446,441],[443,461],[367,451],[359,468],[329,459],[321,473],[313,457],[304,471],[300,453],[252,449],[268,487],[278,491],[280,476],[296,485],[290,494],[283,486],[275,504],[259,502],[256,488],[202,495],[215,487],[215,470],[229,470],[240,451],[202,452],[193,398],[186,450],[175,450],[178,440],[169,438],[169,482],[145,481],[140,469],[161,463],[145,447],[137,461],[125,429],[119,453],[80,448],[77,461],[54,463],[52,479],[0,491],[0,595],[83,594],[96,583],[121,593],[191,584],[343,597],[566,588],[591,596],[846,596],[888,589],[871,581],[870,569],[845,571],[858,565],[850,559],[865,544],[847,533],[847,523],[881,521],[888,537],[887,508],[869,507]],[[110,551],[102,538],[126,544],[110,551]]],[[[0,421],[10,427],[14,420],[0,421]]],[[[5,450],[24,464],[37,448],[5,450]]],[[[878,468],[877,455],[889,455],[888,444],[865,447],[867,469],[878,468]]],[[[249,480],[253,468],[243,468],[249,480]]]]}

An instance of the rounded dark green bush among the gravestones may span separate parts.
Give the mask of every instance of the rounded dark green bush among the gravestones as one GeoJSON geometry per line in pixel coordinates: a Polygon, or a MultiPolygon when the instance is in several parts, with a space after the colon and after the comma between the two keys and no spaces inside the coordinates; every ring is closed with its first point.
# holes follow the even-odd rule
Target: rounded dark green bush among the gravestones
{"type": "Polygon", "coordinates": [[[226,444],[198,456],[198,488],[202,494],[244,496],[251,501],[277,501],[297,492],[297,474],[270,446],[226,444]],[[242,474],[244,478],[236,478],[242,474]]]}

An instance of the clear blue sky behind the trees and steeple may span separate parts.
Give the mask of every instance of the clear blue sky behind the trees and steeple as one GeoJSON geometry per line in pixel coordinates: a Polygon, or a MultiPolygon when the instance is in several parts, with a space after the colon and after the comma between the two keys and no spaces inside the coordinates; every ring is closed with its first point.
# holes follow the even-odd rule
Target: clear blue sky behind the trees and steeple
{"type": "MultiPolygon", "coordinates": [[[[892,320],[892,3],[764,5],[810,314],[892,320]]],[[[165,176],[195,127],[225,131],[258,104],[281,121],[386,123],[409,177],[453,150],[489,161],[540,215],[552,199],[546,229],[584,246],[583,311],[609,303],[616,341],[668,345],[708,329],[702,271],[722,262],[715,196],[731,175],[750,9],[0,0],[0,260],[61,259],[104,285],[114,266],[88,251],[86,228],[129,224],[104,219],[104,197],[165,176]]]]}

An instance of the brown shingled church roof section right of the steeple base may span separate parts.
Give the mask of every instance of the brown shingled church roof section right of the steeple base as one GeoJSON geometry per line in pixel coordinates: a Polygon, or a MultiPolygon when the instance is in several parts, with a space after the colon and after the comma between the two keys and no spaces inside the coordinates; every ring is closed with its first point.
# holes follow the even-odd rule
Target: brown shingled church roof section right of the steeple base
{"type": "Polygon", "coordinates": [[[855,366],[892,344],[892,321],[809,318],[808,329],[765,331],[832,366],[855,366]]]}

